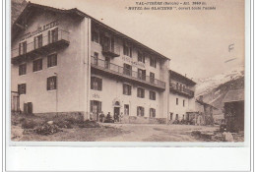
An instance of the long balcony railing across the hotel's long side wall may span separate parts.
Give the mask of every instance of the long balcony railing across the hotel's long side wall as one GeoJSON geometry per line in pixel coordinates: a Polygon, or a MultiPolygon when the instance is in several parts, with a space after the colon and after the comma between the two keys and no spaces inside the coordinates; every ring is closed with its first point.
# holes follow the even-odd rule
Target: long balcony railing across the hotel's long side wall
{"type": "Polygon", "coordinates": [[[92,56],[91,64],[93,67],[100,69],[105,72],[110,72],[112,74],[116,74],[118,76],[122,76],[124,78],[131,79],[133,81],[137,81],[143,84],[147,84],[149,86],[156,86],[161,89],[165,89],[165,83],[161,82],[158,79],[152,78],[150,76],[142,75],[141,73],[132,71],[130,69],[126,69],[124,67],[109,63],[107,61],[97,59],[96,57],[92,56]]]}

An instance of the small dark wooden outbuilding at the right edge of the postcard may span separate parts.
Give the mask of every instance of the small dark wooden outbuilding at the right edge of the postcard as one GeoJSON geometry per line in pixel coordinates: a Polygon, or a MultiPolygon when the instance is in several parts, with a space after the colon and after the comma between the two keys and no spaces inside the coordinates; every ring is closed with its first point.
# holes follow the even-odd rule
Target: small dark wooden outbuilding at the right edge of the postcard
{"type": "Polygon", "coordinates": [[[244,131],[244,90],[229,90],[223,102],[226,130],[228,132],[244,131]]]}

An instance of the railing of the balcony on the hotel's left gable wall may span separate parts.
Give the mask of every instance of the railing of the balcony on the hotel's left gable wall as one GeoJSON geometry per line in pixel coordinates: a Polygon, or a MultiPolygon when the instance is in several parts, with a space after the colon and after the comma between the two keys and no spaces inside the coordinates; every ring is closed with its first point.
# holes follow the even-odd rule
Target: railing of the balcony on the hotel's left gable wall
{"type": "Polygon", "coordinates": [[[61,45],[69,44],[69,32],[59,29],[54,35],[43,35],[36,41],[30,41],[23,44],[22,47],[12,49],[12,60],[15,60],[24,55],[31,55],[32,53],[43,52],[52,49],[54,46],[61,47],[61,45]]]}

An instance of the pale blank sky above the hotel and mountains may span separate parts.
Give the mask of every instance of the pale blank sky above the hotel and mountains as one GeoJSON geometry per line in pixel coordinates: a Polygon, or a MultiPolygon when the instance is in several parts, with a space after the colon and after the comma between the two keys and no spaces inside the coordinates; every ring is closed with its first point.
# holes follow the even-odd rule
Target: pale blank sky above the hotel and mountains
{"type": "MultiPolygon", "coordinates": [[[[186,74],[188,78],[213,77],[244,65],[244,0],[205,1],[207,6],[215,6],[216,10],[126,9],[142,1],[31,0],[32,3],[60,9],[78,8],[170,58],[170,69],[186,74]]],[[[178,2],[192,3],[194,0],[178,2]]]]}

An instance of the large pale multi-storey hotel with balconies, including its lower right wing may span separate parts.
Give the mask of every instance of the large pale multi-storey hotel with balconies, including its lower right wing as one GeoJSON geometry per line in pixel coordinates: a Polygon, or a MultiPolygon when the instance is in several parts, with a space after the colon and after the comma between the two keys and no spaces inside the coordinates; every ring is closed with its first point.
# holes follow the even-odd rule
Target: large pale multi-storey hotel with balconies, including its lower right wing
{"type": "Polygon", "coordinates": [[[169,58],[78,9],[29,3],[12,26],[11,61],[12,110],[103,112],[124,123],[167,123],[195,110],[196,83],[171,71],[169,58]]]}

